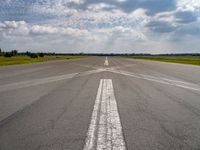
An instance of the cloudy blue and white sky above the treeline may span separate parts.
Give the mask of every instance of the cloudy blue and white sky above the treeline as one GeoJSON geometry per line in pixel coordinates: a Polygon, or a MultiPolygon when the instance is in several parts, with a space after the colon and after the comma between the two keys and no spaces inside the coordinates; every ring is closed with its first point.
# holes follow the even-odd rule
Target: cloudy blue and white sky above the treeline
{"type": "Polygon", "coordinates": [[[200,53],[200,0],[0,0],[0,48],[200,53]]]}

